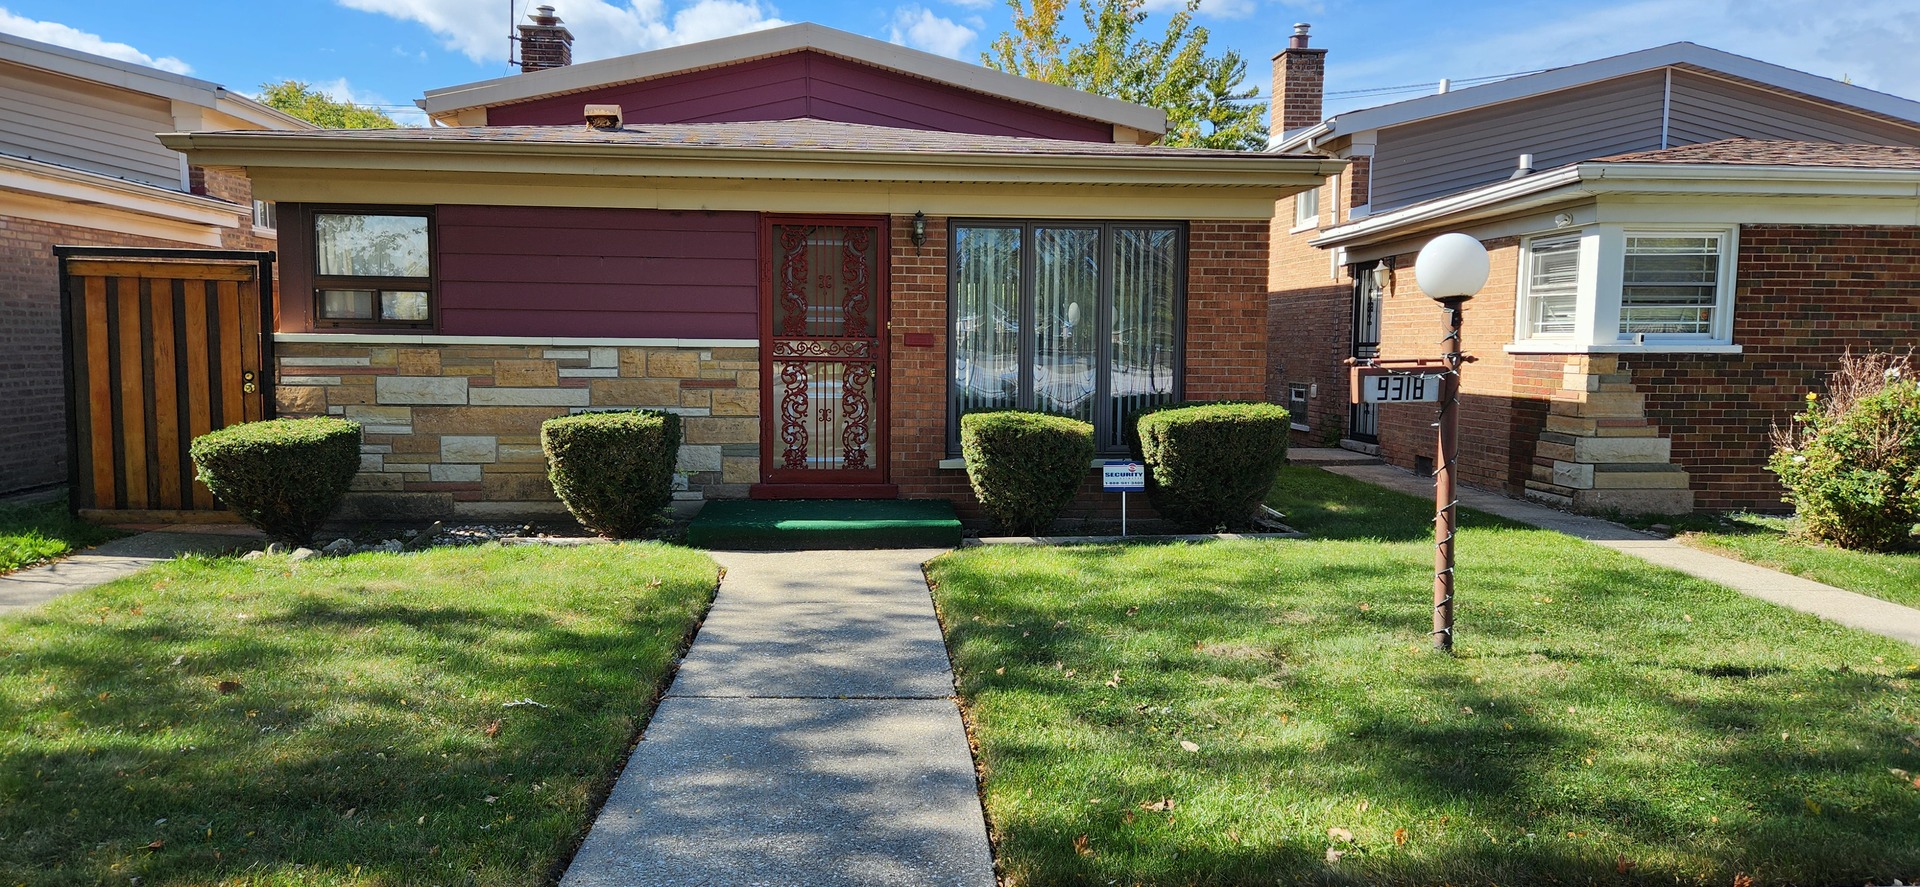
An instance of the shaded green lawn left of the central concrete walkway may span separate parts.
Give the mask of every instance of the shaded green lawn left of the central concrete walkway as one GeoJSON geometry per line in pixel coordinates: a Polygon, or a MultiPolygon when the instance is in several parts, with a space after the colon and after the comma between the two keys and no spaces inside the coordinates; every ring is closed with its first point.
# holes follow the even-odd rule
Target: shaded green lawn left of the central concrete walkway
{"type": "Polygon", "coordinates": [[[551,883],[716,576],[657,543],[188,559],[0,618],[0,883],[551,883]]]}

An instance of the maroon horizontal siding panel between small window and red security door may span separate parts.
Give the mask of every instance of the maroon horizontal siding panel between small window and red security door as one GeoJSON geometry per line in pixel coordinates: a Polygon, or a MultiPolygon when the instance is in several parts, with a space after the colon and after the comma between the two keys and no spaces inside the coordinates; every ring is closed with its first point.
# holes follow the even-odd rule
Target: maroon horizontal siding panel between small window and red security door
{"type": "Polygon", "coordinates": [[[758,338],[756,213],[442,205],[440,332],[758,338]]]}

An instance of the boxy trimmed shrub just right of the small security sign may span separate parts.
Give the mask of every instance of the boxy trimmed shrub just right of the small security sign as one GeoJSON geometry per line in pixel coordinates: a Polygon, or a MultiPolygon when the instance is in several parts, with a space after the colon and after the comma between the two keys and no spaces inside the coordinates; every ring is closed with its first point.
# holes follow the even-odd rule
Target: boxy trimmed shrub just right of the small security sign
{"type": "Polygon", "coordinates": [[[1286,409],[1204,403],[1158,409],[1139,422],[1146,497],[1190,530],[1246,526],[1286,463],[1286,409]]]}

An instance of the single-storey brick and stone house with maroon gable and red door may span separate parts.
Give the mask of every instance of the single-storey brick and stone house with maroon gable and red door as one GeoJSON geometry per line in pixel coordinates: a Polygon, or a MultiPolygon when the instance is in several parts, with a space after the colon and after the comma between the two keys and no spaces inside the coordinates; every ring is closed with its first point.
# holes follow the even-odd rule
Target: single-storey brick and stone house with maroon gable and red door
{"type": "Polygon", "coordinates": [[[432,129],[165,136],[278,202],[278,409],[363,422],[353,507],[557,509],[540,422],[632,407],[684,417],[685,505],[968,503],[966,411],[1116,451],[1260,397],[1267,221],[1344,165],[816,25],[568,40],[541,10],[538,69],[426,92],[432,129]]]}

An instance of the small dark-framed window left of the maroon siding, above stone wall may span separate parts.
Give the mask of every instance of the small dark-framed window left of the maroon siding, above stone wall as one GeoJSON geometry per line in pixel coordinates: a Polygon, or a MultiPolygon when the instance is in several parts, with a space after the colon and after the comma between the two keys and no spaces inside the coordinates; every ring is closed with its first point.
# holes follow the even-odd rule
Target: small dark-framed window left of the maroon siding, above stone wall
{"type": "Polygon", "coordinates": [[[313,315],[326,326],[432,326],[432,217],[313,213],[313,315]]]}

